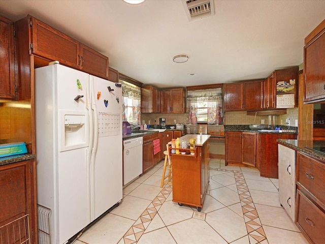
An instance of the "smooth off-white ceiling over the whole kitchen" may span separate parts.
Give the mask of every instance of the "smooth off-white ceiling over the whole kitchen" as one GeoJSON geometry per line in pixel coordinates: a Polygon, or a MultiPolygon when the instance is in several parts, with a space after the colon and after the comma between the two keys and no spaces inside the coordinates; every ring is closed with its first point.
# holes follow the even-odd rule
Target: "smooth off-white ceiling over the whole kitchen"
{"type": "Polygon", "coordinates": [[[214,8],[214,16],[189,21],[182,0],[0,1],[0,15],[30,14],[108,56],[120,73],[161,88],[265,78],[300,65],[305,37],[325,18],[323,0],[215,0],[214,8]],[[173,63],[177,54],[188,62],[173,63]]]}

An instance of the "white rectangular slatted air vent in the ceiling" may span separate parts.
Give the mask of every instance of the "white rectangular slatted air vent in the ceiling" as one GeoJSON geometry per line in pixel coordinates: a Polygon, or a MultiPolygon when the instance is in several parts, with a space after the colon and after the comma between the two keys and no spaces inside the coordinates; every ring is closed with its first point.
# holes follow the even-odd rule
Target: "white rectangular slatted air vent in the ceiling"
{"type": "Polygon", "coordinates": [[[213,0],[183,0],[183,5],[189,21],[214,15],[213,0]]]}

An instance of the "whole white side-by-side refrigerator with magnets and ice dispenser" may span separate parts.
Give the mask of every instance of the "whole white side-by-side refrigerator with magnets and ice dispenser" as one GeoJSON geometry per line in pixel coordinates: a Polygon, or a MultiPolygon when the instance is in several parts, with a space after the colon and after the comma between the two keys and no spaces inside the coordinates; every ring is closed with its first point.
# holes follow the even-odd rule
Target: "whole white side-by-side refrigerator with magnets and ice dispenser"
{"type": "Polygon", "coordinates": [[[59,64],[35,69],[37,203],[52,244],[122,199],[122,89],[59,64]]]}

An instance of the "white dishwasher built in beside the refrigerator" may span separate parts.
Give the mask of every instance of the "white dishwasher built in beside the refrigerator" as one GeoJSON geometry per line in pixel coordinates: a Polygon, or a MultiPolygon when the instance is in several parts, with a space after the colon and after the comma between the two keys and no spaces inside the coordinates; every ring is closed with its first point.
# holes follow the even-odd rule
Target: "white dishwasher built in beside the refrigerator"
{"type": "Polygon", "coordinates": [[[123,141],[123,186],[142,174],[143,138],[123,141]]]}

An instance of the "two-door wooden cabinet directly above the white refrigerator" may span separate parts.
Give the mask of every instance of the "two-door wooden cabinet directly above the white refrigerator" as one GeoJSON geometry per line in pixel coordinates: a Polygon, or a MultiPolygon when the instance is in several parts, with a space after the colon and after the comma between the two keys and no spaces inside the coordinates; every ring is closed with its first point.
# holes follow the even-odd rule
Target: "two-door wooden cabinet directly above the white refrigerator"
{"type": "Polygon", "coordinates": [[[27,18],[31,33],[30,54],[108,79],[108,57],[32,16],[27,18]]]}

